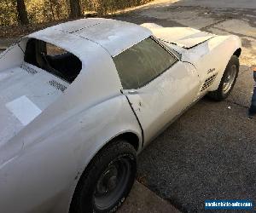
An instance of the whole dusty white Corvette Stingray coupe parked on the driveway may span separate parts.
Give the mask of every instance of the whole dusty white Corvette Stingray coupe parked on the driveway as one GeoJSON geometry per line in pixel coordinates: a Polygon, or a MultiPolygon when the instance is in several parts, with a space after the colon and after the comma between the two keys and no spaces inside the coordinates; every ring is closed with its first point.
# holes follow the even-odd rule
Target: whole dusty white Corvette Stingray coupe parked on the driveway
{"type": "Polygon", "coordinates": [[[204,95],[230,95],[241,41],[84,19],[0,55],[0,211],[113,212],[137,154],[204,95]]]}

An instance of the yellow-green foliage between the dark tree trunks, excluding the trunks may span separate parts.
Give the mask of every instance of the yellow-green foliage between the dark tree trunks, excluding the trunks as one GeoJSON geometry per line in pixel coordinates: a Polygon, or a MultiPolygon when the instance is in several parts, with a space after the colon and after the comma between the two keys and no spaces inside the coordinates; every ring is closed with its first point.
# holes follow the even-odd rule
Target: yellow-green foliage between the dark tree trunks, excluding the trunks
{"type": "MultiPolygon", "coordinates": [[[[82,14],[90,11],[98,15],[113,13],[148,3],[152,0],[80,0],[82,14]]],[[[28,19],[31,24],[66,20],[69,14],[69,0],[25,0],[28,19]]],[[[0,1],[0,26],[18,25],[16,0],[0,1]]]]}

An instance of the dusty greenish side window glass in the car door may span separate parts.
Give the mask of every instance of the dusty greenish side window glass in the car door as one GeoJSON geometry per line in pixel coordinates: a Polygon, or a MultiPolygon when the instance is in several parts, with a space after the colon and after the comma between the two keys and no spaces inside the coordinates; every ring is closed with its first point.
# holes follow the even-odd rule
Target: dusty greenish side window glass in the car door
{"type": "Polygon", "coordinates": [[[138,89],[157,78],[177,59],[151,37],[113,58],[124,89],[138,89]]]}

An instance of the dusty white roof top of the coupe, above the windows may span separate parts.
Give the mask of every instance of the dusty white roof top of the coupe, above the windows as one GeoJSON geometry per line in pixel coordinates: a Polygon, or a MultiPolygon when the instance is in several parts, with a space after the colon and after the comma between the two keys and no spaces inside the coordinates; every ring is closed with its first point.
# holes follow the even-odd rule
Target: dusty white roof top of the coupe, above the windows
{"type": "MultiPolygon", "coordinates": [[[[112,56],[119,55],[125,49],[130,48],[136,43],[139,43],[146,37],[152,35],[152,32],[143,26],[128,23],[120,20],[102,19],[102,18],[88,18],[81,20],[68,21],[57,26],[48,27],[42,31],[33,33],[30,37],[44,38],[48,36],[48,41],[56,40],[56,34],[63,33],[64,37],[58,37],[58,43],[67,42],[67,40],[77,37],[81,42],[83,39],[90,42],[97,43],[103,49],[106,49],[112,56]]],[[[44,40],[44,39],[42,39],[44,40]]],[[[65,45],[63,45],[65,46],[65,45]]],[[[86,49],[86,45],[80,45],[80,49],[86,49]]],[[[76,49],[73,49],[73,52],[76,49]]]]}

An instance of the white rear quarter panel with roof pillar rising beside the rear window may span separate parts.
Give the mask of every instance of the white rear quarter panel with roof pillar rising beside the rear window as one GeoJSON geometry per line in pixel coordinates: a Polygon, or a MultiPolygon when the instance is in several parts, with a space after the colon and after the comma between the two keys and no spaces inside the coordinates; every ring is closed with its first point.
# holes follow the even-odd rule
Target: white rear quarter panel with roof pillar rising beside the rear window
{"type": "Polygon", "coordinates": [[[83,70],[63,95],[1,145],[1,211],[67,212],[79,176],[98,150],[126,131],[142,141],[111,56],[96,43],[86,51],[75,52],[83,70]]]}

